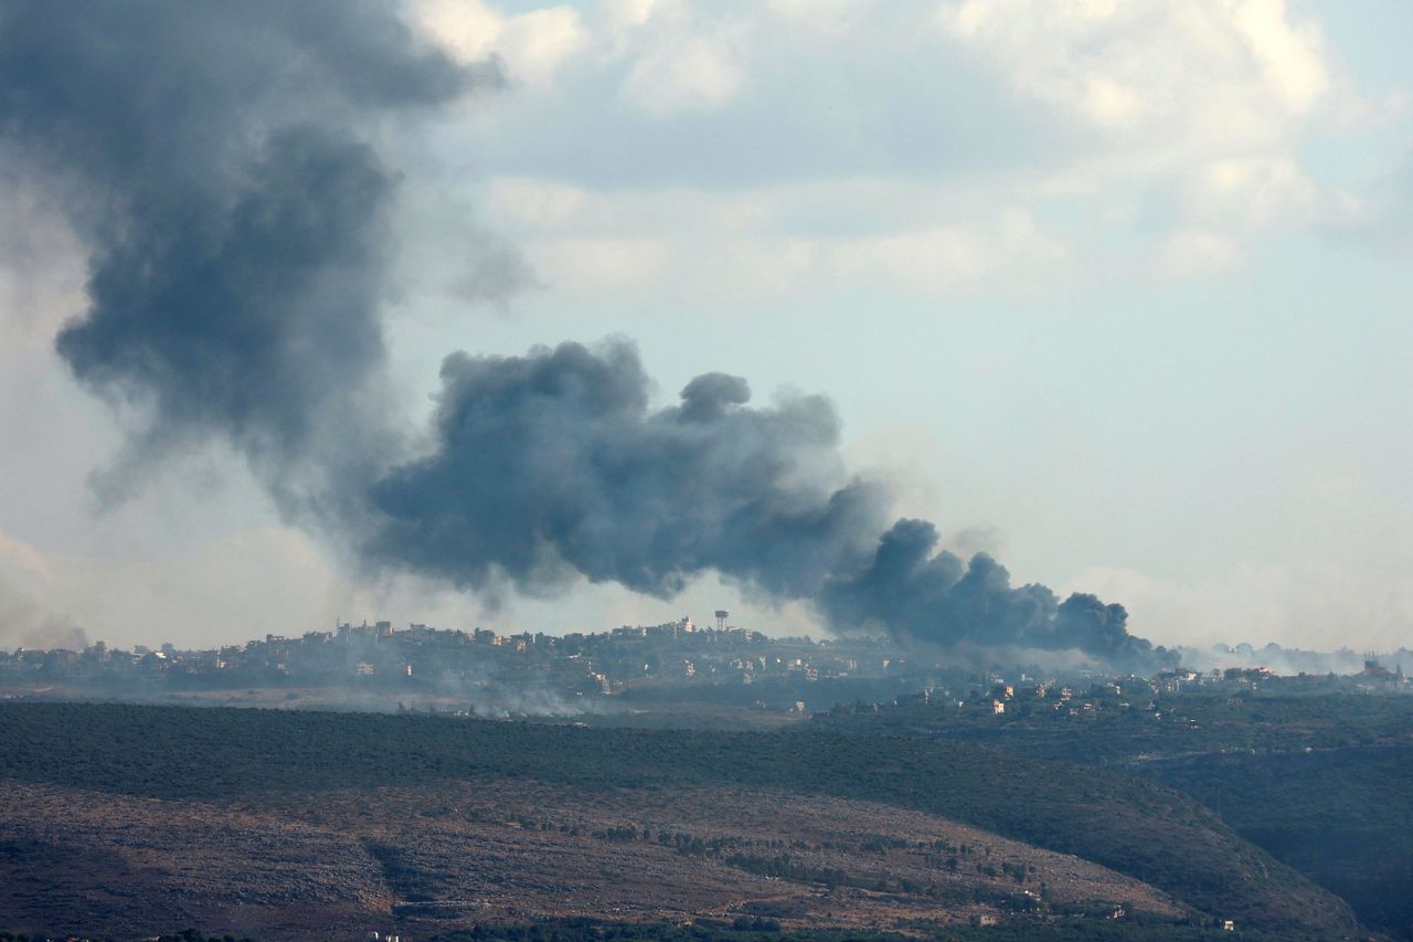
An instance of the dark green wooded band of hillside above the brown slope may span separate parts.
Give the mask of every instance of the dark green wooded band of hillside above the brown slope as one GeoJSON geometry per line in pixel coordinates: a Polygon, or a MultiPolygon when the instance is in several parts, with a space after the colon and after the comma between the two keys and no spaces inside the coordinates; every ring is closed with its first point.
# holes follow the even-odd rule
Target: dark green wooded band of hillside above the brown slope
{"type": "Polygon", "coordinates": [[[0,706],[0,774],[155,798],[516,777],[586,789],[745,785],[863,798],[1077,854],[1210,918],[1290,935],[1356,929],[1341,900],[1178,792],[965,743],[11,703],[0,706]]]}

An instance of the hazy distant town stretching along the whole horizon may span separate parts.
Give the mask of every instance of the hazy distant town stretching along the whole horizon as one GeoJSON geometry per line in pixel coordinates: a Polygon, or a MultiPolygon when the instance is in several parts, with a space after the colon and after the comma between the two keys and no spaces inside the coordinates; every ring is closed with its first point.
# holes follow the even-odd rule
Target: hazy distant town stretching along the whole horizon
{"type": "Polygon", "coordinates": [[[803,714],[921,697],[996,716],[1037,706],[1068,716],[1132,709],[1136,700],[1152,707],[1153,696],[1194,690],[1407,692],[1403,662],[1413,663],[1407,651],[1358,658],[1218,645],[1202,653],[1243,666],[1180,668],[1152,678],[1085,665],[1003,666],[981,661],[991,652],[918,649],[877,636],[771,638],[729,624],[726,611],[705,625],[682,617],[565,635],[336,621],[332,631],[267,634],[209,649],[162,644],[127,651],[99,641],[82,651],[0,651],[0,697],[223,694],[223,702],[242,702],[249,694],[250,702],[278,699],[285,706],[380,702],[389,709],[486,716],[571,716],[688,702],[803,714]],[[1262,655],[1277,668],[1251,666],[1262,655]],[[1289,665],[1311,669],[1289,672],[1289,665]]]}

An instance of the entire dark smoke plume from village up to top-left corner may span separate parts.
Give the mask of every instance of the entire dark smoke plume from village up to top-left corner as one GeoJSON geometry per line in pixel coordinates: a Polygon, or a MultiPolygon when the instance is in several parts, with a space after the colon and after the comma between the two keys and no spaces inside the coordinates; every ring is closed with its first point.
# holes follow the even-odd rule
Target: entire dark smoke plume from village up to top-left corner
{"type": "Polygon", "coordinates": [[[380,405],[397,171],[373,129],[496,79],[394,7],[0,10],[3,146],[62,195],[90,253],[89,307],[57,349],[146,416],[102,495],[219,437],[290,519],[463,588],[582,576],[671,597],[715,571],[838,631],[1153,655],[1119,605],[1013,588],[989,556],[937,550],[931,523],[889,526],[887,489],[848,475],[827,400],[757,407],[745,379],[705,373],[653,407],[627,342],[451,355],[434,448],[408,453],[380,405]]]}

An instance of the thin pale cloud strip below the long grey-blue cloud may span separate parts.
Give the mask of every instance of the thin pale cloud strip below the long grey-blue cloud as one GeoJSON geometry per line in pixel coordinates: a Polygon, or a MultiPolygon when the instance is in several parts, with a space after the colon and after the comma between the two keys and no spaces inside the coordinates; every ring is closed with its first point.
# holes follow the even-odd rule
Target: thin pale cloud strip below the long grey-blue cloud
{"type": "Polygon", "coordinates": [[[633,287],[749,301],[861,284],[935,296],[1024,280],[1012,276],[1067,255],[1023,207],[875,180],[721,194],[593,192],[513,177],[489,181],[485,194],[490,223],[571,297],[633,287]],[[798,223],[841,212],[870,225],[825,233],[798,223]]]}

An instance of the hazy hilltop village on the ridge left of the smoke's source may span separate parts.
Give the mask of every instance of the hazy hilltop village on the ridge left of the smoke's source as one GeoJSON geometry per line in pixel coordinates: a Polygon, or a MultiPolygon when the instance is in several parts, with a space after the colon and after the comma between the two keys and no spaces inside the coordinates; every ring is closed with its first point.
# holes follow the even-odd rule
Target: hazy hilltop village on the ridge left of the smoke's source
{"type": "Polygon", "coordinates": [[[745,706],[764,697],[771,704],[796,707],[801,699],[814,699],[804,692],[821,683],[846,683],[858,690],[892,690],[900,683],[909,687],[916,669],[901,649],[885,639],[769,638],[726,624],[726,612],[719,612],[715,625],[699,627],[684,617],[658,625],[565,635],[504,635],[422,624],[398,629],[376,621],[339,622],[333,631],[292,638],[267,634],[243,645],[198,651],[171,644],[123,651],[103,642],[82,651],[0,651],[0,685],[28,680],[153,693],[338,687],[413,699],[500,700],[510,704],[502,713],[575,713],[623,694],[660,700],[723,686],[736,690],[740,696],[731,699],[745,706]],[[781,692],[788,696],[781,699],[781,692]]]}

